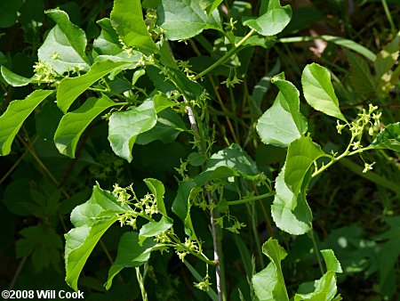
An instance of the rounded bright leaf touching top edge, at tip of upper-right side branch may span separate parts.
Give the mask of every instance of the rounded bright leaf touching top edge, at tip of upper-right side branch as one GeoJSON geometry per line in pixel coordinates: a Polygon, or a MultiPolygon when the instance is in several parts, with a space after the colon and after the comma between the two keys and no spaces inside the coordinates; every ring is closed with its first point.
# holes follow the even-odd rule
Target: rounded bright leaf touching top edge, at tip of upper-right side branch
{"type": "Polygon", "coordinates": [[[270,0],[267,12],[259,18],[244,17],[243,24],[262,36],[275,36],[284,30],[291,19],[292,8],[290,5],[281,6],[279,0],[270,0]]]}

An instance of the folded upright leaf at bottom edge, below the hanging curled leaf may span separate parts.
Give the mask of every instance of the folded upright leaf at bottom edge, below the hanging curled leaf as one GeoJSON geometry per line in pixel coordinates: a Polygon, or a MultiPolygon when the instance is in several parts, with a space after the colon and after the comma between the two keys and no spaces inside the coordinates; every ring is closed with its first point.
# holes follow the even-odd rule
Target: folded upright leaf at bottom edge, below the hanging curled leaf
{"type": "Polygon", "coordinates": [[[252,276],[252,286],[256,297],[260,301],[289,301],[281,266],[281,261],[287,255],[286,251],[279,246],[277,240],[269,239],[263,244],[262,253],[268,256],[271,263],[260,273],[252,276]]]}

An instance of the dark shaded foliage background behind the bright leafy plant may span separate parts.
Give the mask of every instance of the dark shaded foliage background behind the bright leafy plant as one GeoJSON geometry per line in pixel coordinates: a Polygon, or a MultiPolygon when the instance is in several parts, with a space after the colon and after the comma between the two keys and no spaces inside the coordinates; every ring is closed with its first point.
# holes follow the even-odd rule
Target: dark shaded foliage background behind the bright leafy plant
{"type": "MultiPolygon", "coordinates": [[[[382,2],[386,4],[386,1],[382,2]]],[[[151,5],[151,1],[144,3],[151,5]]],[[[242,10],[236,14],[256,14],[259,6],[257,1],[253,1],[252,6],[240,2],[235,6],[232,1],[223,4],[242,10]]],[[[281,43],[268,49],[255,47],[241,52],[238,55],[241,64],[235,72],[244,82],[234,87],[220,84],[220,100],[217,95],[212,95],[215,101],[208,107],[212,121],[218,125],[214,152],[237,142],[255,160],[259,170],[271,178],[275,178],[283,167],[286,150],[263,144],[256,134],[255,124],[261,113],[272,105],[278,92],[275,85],[269,85],[270,77],[282,71],[286,79],[301,90],[302,70],[306,64],[316,61],[335,75],[332,82],[340,99],[340,109],[346,116],[356,118],[357,110],[372,102],[382,111],[383,125],[400,119],[398,75],[394,78],[394,88],[387,89],[387,83],[380,82],[382,65],[374,66],[367,60],[371,52],[380,53],[384,45],[396,38],[396,29],[400,28],[400,3],[388,1],[391,20],[380,1],[293,1],[291,4],[292,21],[278,36],[281,43]],[[351,52],[335,41],[326,43],[309,39],[300,42],[298,39],[297,43],[289,43],[290,37],[313,35],[326,35],[325,41],[331,36],[345,37],[371,52],[361,48],[351,52]]],[[[32,66],[38,61],[37,50],[54,26],[44,11],[55,7],[68,12],[70,20],[84,29],[89,41],[86,51],[90,52],[94,47],[93,39],[100,35],[96,20],[109,16],[112,2],[18,0],[9,4],[3,1],[0,3],[0,65],[20,76],[33,76],[32,66]]],[[[241,26],[237,25],[239,29],[241,26]]],[[[194,71],[201,71],[209,58],[207,45],[212,46],[214,35],[205,30],[198,39],[192,40],[194,45],[177,41],[171,43],[172,50],[179,60],[190,58],[194,71]]],[[[172,35],[169,38],[180,40],[185,37],[172,35]]],[[[216,49],[223,52],[218,43],[216,49]]],[[[394,65],[398,69],[397,58],[394,65]]],[[[151,72],[148,73],[151,77],[151,72]]],[[[229,69],[220,68],[213,72],[212,78],[222,83],[230,76],[229,69]]],[[[141,78],[140,85],[148,85],[148,77],[141,78]]],[[[117,90],[118,85],[124,83],[115,85],[113,88],[117,90]]],[[[206,85],[214,84],[208,81],[206,85]]],[[[0,88],[1,112],[12,100],[24,99],[32,92],[27,85],[8,85],[3,76],[0,76],[0,88]]],[[[92,92],[86,91],[80,102],[92,96],[92,92]]],[[[103,102],[107,106],[108,100],[103,99],[103,102]]],[[[346,134],[338,135],[333,118],[304,103],[300,104],[300,111],[308,118],[308,131],[313,133],[313,140],[324,145],[325,152],[340,149],[348,141],[346,134]]],[[[78,108],[76,103],[72,106],[78,108]]],[[[187,133],[179,136],[172,133],[172,139],[163,142],[138,141],[139,145],[135,144],[132,151],[132,163],[127,163],[114,154],[107,140],[107,123],[97,118],[82,134],[81,140],[75,141],[76,159],[70,159],[60,154],[53,142],[62,116],[54,102],[39,106],[21,127],[12,143],[11,155],[0,158],[0,289],[69,289],[64,280],[63,235],[73,227],[69,221],[72,209],[90,198],[95,181],[111,191],[114,183],[120,186],[134,183],[136,193],[141,195],[148,191],[142,180],[156,178],[164,183],[166,206],[171,207],[178,190],[176,178],[179,174],[175,167],[180,167],[181,160],[194,151],[187,133]]],[[[181,120],[176,122],[181,128],[188,127],[186,120],[183,124],[180,124],[181,120]]],[[[71,154],[71,150],[66,149],[64,153],[71,154]]],[[[129,156],[125,159],[132,159],[129,156]]],[[[271,197],[264,199],[258,207],[231,209],[230,214],[237,216],[247,227],[241,230],[244,235],[240,237],[232,233],[224,238],[229,300],[240,300],[241,294],[244,300],[250,300],[246,275],[251,277],[264,267],[264,261],[267,262],[257,240],[253,239],[254,230],[261,242],[275,237],[288,251],[282,266],[291,293],[300,283],[320,277],[313,247],[316,244],[318,249],[332,248],[340,261],[343,273],[338,275],[338,287],[345,299],[395,300],[400,297],[398,153],[365,152],[363,159],[343,159],[339,165],[320,175],[317,181],[311,181],[308,202],[314,216],[314,236],[293,237],[278,231],[269,212],[271,197]],[[373,171],[362,172],[363,159],[376,162],[373,171]]],[[[188,166],[190,175],[196,175],[202,159],[199,160],[197,167],[188,166]]],[[[207,218],[201,210],[193,210],[192,214],[197,235],[209,237],[207,218]]],[[[110,290],[106,291],[103,286],[109,266],[116,258],[118,240],[124,232],[117,224],[112,226],[89,257],[79,280],[79,289],[84,290],[85,299],[140,299],[133,270],[125,269],[116,277],[110,290]]],[[[204,241],[204,248],[211,248],[211,244],[211,241],[204,241]]],[[[202,264],[192,259],[188,262],[204,273],[202,264]]],[[[149,264],[146,286],[150,300],[207,299],[204,292],[193,288],[196,280],[177,256],[157,253],[151,256],[149,264]]],[[[215,283],[214,279],[211,281],[215,283]]]]}

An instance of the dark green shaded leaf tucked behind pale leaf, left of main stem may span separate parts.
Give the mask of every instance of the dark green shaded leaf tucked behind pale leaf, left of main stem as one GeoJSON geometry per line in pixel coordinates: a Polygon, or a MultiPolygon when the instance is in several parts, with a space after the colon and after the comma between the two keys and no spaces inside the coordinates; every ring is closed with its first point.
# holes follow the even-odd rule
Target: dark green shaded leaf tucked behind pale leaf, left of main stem
{"type": "Polygon", "coordinates": [[[157,114],[157,123],[151,130],[140,134],[136,143],[148,144],[156,140],[171,143],[176,137],[186,131],[185,123],[174,110],[167,109],[157,114]]]}

